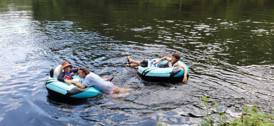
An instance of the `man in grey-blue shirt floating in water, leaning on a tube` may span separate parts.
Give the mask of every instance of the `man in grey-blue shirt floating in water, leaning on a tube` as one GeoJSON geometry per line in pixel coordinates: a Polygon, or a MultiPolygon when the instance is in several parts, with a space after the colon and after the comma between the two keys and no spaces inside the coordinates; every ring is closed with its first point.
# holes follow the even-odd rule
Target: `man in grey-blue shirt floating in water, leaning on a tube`
{"type": "Polygon", "coordinates": [[[119,88],[112,82],[100,78],[98,75],[91,73],[88,68],[80,67],[78,73],[79,76],[85,78],[85,80],[82,82],[82,84],[75,81],[72,83],[81,89],[92,86],[95,89],[107,94],[130,91],[130,89],[119,88]]]}

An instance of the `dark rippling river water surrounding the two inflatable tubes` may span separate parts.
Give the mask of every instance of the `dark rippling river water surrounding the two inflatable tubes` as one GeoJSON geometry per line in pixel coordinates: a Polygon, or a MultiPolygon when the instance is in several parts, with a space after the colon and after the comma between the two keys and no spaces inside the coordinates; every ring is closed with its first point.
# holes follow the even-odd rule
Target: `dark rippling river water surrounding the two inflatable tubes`
{"type": "MultiPolygon", "coordinates": [[[[203,95],[228,119],[240,106],[274,108],[274,1],[0,0],[1,125],[197,125],[203,95]],[[190,68],[183,83],[143,81],[126,56],[171,57],[190,68]],[[64,61],[131,88],[66,101],[45,88],[64,61]]],[[[216,116],[211,114],[212,117],[216,116]]]]}

